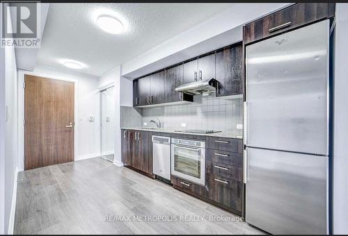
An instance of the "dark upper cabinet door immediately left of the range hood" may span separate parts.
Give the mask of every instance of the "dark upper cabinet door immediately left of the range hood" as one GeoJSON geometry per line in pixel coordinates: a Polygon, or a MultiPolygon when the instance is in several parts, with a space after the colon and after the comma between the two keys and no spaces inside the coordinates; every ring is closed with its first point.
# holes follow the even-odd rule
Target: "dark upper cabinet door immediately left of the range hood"
{"type": "Polygon", "coordinates": [[[165,95],[166,103],[172,101],[181,101],[181,92],[176,92],[175,88],[182,85],[184,78],[184,66],[177,65],[176,67],[171,67],[166,69],[166,80],[165,80],[165,95]]]}

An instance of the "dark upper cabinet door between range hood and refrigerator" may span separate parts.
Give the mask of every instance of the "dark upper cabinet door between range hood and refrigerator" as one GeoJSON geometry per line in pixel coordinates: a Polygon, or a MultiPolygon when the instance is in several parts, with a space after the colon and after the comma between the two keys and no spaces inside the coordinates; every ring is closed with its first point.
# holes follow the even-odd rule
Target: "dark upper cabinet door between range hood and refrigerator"
{"type": "Polygon", "coordinates": [[[219,81],[216,96],[243,94],[243,60],[242,43],[216,52],[216,80],[219,81]]]}

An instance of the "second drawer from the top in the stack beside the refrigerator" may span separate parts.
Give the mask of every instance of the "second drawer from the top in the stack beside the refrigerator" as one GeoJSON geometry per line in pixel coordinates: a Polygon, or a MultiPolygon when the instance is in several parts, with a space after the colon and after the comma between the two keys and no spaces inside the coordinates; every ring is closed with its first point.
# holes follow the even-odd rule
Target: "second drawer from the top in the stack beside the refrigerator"
{"type": "Polygon", "coordinates": [[[243,167],[243,154],[220,151],[216,149],[205,149],[205,160],[219,162],[235,167],[243,167]]]}

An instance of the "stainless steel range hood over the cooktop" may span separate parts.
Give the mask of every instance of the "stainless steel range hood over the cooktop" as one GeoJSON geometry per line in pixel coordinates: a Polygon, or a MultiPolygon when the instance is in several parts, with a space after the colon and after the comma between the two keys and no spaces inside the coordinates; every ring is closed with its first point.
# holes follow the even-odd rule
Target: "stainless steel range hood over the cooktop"
{"type": "Polygon", "coordinates": [[[175,88],[177,92],[183,92],[185,94],[204,94],[216,91],[216,85],[219,83],[214,78],[209,78],[205,81],[195,81],[192,83],[185,83],[184,85],[180,85],[175,88]]]}

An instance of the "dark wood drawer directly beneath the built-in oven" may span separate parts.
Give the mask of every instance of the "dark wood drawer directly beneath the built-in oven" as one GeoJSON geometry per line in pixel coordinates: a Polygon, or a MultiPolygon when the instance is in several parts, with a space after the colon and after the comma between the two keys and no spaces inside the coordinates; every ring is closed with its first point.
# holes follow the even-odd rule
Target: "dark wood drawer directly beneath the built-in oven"
{"type": "Polygon", "coordinates": [[[206,198],[207,196],[207,190],[205,189],[205,186],[192,183],[189,180],[185,180],[184,178],[179,178],[173,175],[171,176],[171,182],[176,188],[187,192],[188,194],[192,194],[200,198],[206,198]]]}

